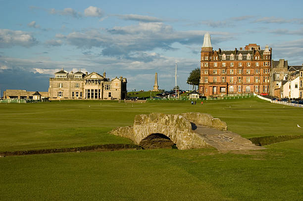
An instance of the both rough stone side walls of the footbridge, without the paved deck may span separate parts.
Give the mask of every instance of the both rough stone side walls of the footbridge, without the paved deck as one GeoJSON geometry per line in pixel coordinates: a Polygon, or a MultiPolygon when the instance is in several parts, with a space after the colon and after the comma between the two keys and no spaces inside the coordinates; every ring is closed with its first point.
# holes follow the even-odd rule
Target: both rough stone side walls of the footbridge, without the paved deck
{"type": "Polygon", "coordinates": [[[130,138],[136,144],[142,143],[146,137],[152,134],[163,134],[176,144],[178,149],[209,147],[210,145],[205,141],[205,136],[193,131],[191,122],[197,122],[200,125],[218,128],[223,131],[227,130],[225,122],[208,114],[183,113],[181,115],[166,115],[152,113],[149,115],[136,115],[133,126],[116,128],[111,131],[111,134],[130,138]]]}

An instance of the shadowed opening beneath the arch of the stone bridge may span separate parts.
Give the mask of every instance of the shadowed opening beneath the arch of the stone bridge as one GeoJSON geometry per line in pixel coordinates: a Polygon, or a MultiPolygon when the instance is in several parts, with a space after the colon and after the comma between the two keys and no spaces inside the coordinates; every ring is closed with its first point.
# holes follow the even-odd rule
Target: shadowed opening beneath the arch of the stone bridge
{"type": "Polygon", "coordinates": [[[144,149],[176,148],[175,143],[164,134],[150,134],[139,143],[144,149]]]}

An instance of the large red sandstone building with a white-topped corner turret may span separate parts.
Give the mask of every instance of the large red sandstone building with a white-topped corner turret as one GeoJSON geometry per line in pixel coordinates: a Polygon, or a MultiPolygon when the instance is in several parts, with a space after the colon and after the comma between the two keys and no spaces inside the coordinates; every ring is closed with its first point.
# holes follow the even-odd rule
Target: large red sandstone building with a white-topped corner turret
{"type": "Polygon", "coordinates": [[[270,93],[271,53],[267,45],[261,50],[256,44],[249,44],[244,50],[213,51],[206,33],[201,49],[199,92],[202,96],[270,93]]]}

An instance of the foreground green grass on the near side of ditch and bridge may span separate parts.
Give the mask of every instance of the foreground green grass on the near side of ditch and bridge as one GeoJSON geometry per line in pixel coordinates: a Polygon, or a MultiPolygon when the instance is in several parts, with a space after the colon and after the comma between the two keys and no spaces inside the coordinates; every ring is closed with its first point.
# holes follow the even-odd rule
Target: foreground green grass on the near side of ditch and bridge
{"type": "Polygon", "coordinates": [[[262,151],[5,157],[0,158],[0,195],[1,200],[302,200],[303,139],[279,144],[262,151]]]}

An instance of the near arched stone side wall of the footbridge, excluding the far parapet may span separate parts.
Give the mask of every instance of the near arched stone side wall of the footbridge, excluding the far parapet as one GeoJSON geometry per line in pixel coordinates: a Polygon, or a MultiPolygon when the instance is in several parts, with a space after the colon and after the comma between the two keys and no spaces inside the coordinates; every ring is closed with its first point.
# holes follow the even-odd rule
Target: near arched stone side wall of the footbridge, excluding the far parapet
{"type": "Polygon", "coordinates": [[[111,134],[132,139],[136,144],[151,134],[164,134],[169,137],[179,149],[210,147],[203,136],[192,131],[190,121],[182,115],[165,115],[152,113],[135,116],[134,125],[114,129],[111,134]]]}

